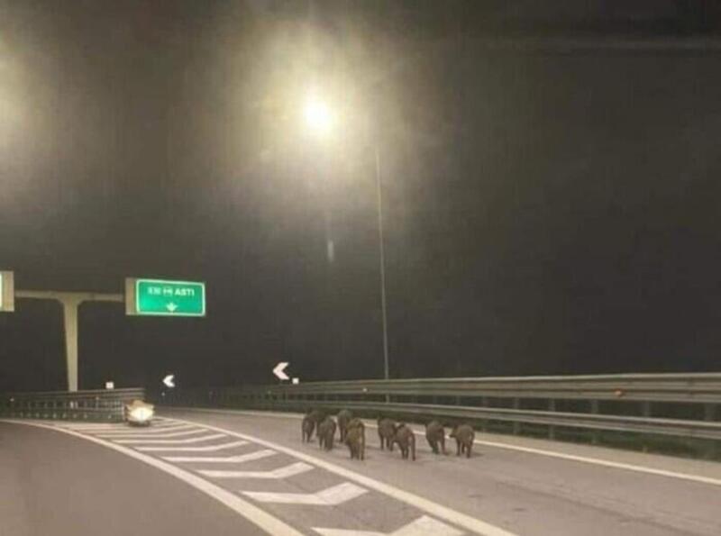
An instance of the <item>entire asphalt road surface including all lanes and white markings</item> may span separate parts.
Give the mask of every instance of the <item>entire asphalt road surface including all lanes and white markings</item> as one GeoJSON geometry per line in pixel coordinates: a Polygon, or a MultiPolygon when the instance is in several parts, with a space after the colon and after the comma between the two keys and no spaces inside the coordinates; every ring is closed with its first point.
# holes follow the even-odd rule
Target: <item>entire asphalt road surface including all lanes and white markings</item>
{"type": "Polygon", "coordinates": [[[0,422],[0,534],[721,534],[714,462],[480,433],[411,461],[367,433],[359,461],[280,413],[0,422]]]}

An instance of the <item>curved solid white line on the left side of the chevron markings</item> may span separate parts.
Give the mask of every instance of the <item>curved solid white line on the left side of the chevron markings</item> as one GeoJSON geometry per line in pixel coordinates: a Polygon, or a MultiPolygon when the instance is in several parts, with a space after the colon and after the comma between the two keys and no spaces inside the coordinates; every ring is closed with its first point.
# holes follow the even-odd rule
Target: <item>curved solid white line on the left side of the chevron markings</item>
{"type": "Polygon", "coordinates": [[[220,486],[215,486],[212,482],[208,482],[204,478],[197,477],[196,475],[189,471],[186,471],[185,469],[178,468],[177,466],[169,464],[160,459],[153,458],[146,454],[142,454],[141,452],[137,452],[136,450],[128,449],[127,447],[123,447],[110,441],[101,440],[99,438],[88,436],[72,430],[59,428],[58,426],[53,426],[51,424],[42,424],[40,422],[20,422],[11,420],[2,421],[15,424],[24,424],[27,426],[37,426],[39,428],[54,430],[56,432],[67,433],[68,435],[73,435],[80,439],[92,441],[94,443],[97,443],[98,445],[103,445],[108,449],[122,452],[126,456],[131,457],[132,459],[137,459],[143,463],[147,463],[154,468],[160,469],[161,471],[164,471],[165,473],[178,478],[178,480],[182,480],[187,485],[193,486],[198,491],[205,493],[205,495],[213,497],[216,501],[224,504],[225,506],[233,510],[233,512],[242,515],[242,517],[254,523],[258,527],[260,527],[261,530],[266,531],[269,534],[283,534],[284,536],[303,536],[302,532],[297,531],[287,523],[280,521],[278,518],[273,517],[267,512],[264,512],[256,505],[243,500],[238,495],[235,495],[220,486]]]}

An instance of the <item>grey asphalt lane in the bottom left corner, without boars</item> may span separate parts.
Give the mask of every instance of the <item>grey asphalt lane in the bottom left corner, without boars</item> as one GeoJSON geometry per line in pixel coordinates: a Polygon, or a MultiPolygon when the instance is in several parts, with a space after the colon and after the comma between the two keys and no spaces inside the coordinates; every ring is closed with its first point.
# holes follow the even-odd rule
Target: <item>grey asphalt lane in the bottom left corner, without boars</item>
{"type": "Polygon", "coordinates": [[[64,433],[0,422],[2,536],[265,534],[174,477],[64,433]]]}

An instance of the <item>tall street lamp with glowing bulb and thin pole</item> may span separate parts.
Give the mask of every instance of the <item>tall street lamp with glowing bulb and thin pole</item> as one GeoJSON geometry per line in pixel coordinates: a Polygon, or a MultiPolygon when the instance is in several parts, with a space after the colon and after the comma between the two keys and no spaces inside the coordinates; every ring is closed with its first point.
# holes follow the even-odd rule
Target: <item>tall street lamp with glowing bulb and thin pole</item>
{"type": "MultiPolygon", "coordinates": [[[[333,128],[333,114],[330,106],[315,96],[308,98],[304,108],[306,124],[311,132],[327,136],[333,128]]],[[[379,265],[380,265],[380,310],[383,323],[383,377],[390,377],[388,370],[388,309],[386,306],[386,252],[383,239],[383,191],[380,175],[380,151],[374,142],[376,200],[378,209],[379,265]]],[[[327,232],[327,230],[326,230],[327,232]]]]}

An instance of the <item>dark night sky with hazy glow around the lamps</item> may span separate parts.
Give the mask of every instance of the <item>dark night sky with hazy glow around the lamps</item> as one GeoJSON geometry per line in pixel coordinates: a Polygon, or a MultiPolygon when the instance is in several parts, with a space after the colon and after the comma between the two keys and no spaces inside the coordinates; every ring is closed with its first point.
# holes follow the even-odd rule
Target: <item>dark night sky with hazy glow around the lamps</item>
{"type": "MultiPolygon", "coordinates": [[[[0,268],[207,283],[83,305],[81,388],[379,377],[378,147],[392,377],[718,370],[714,5],[0,0],[0,268]]],[[[63,352],[58,304],[0,314],[0,390],[63,352]]]]}

